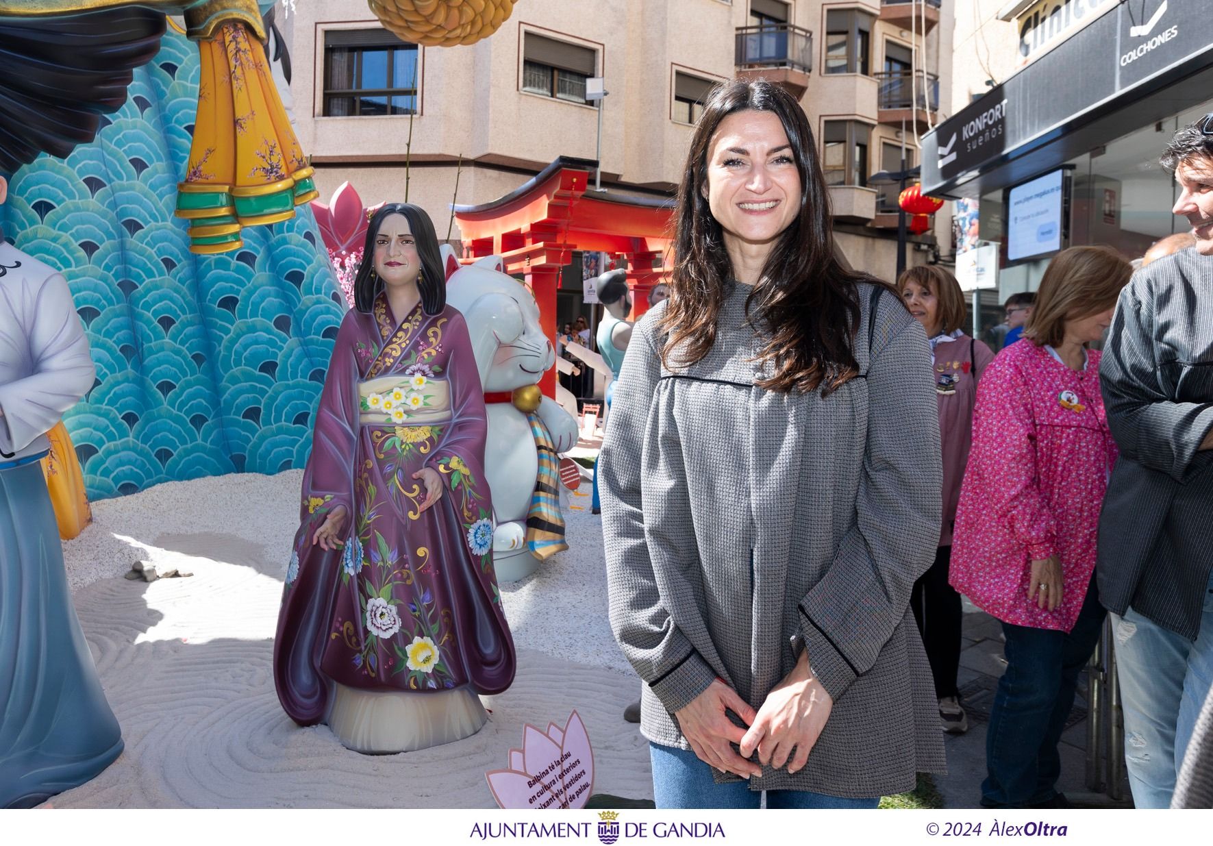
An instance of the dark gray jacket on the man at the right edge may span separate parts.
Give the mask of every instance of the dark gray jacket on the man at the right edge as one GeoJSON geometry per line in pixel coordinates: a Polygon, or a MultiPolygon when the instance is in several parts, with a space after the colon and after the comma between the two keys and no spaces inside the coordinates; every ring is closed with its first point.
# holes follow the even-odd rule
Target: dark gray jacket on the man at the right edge
{"type": "Polygon", "coordinates": [[[1196,640],[1213,570],[1213,256],[1133,274],[1099,365],[1121,454],[1099,519],[1099,600],[1196,640]]]}

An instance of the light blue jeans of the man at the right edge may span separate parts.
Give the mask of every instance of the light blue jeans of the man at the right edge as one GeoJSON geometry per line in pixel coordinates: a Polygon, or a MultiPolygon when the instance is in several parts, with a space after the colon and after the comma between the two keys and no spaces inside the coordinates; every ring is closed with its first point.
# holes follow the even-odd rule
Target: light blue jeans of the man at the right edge
{"type": "Polygon", "coordinates": [[[1192,642],[1129,608],[1112,614],[1133,804],[1171,807],[1196,716],[1213,686],[1213,578],[1192,642]]]}

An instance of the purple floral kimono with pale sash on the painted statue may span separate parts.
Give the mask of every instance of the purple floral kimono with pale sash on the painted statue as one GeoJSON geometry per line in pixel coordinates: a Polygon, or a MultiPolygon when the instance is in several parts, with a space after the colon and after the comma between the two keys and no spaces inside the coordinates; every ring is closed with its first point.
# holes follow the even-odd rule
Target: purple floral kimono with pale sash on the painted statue
{"type": "Polygon", "coordinates": [[[402,323],[385,296],[337,333],[303,473],[274,643],[278,698],[300,725],[325,716],[331,682],[383,691],[514,677],[492,569],[484,478],[486,421],[463,316],[418,305],[402,323]],[[412,475],[437,470],[443,498],[423,513],[412,475]],[[342,550],[312,544],[344,505],[342,550]]]}

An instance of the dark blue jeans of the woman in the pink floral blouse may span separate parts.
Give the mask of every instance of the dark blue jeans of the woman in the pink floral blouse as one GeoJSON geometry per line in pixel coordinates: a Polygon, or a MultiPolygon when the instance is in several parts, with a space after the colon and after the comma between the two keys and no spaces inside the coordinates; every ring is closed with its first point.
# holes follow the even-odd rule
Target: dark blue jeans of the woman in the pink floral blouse
{"type": "Polygon", "coordinates": [[[1094,579],[1070,632],[1003,623],[1007,670],[990,710],[983,807],[1031,807],[1057,796],[1058,743],[1078,674],[1104,625],[1094,579]]]}

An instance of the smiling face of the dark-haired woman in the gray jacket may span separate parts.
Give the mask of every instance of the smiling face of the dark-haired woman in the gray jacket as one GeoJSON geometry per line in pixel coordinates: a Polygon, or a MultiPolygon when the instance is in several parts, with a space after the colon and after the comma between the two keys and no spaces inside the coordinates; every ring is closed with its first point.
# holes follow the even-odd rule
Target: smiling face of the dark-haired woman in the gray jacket
{"type": "Polygon", "coordinates": [[[801,171],[774,112],[746,109],[721,121],[707,152],[707,198],[731,250],[768,249],[801,210],[801,171]]]}

